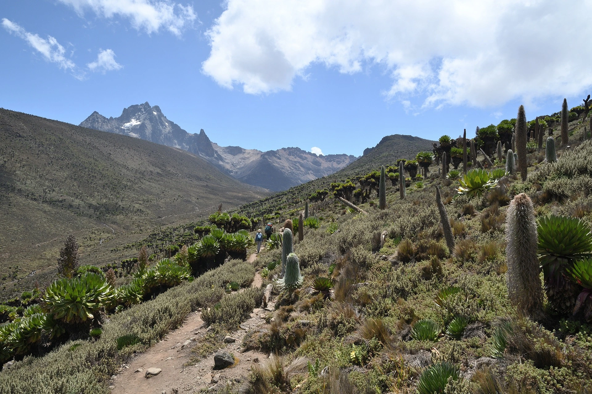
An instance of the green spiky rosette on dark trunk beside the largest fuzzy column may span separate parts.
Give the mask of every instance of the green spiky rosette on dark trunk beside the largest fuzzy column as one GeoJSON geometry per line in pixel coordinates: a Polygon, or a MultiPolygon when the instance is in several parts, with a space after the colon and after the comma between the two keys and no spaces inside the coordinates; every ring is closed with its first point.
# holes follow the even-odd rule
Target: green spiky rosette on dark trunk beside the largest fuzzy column
{"type": "Polygon", "coordinates": [[[578,288],[568,280],[566,270],[575,261],[590,258],[592,233],[583,220],[564,216],[542,217],[537,233],[537,252],[549,304],[567,314],[574,308],[578,288]]]}

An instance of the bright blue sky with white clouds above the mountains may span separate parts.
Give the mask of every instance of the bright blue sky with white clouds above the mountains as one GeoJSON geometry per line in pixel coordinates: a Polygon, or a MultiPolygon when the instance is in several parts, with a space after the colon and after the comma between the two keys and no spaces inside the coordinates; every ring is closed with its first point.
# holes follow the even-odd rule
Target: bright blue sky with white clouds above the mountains
{"type": "Polygon", "coordinates": [[[361,155],[589,93],[591,51],[574,40],[589,5],[394,3],[4,1],[0,106],[78,124],[147,101],[220,145],[361,155]]]}

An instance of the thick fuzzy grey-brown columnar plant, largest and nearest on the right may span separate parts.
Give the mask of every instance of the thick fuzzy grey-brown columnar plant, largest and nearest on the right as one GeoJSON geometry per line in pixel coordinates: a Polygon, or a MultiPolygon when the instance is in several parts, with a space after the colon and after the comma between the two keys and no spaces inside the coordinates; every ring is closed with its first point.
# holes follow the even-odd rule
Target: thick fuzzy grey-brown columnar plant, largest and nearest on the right
{"type": "Polygon", "coordinates": [[[536,255],[537,233],[532,201],[520,193],[506,213],[508,297],[519,311],[542,317],[543,296],[536,255]]]}

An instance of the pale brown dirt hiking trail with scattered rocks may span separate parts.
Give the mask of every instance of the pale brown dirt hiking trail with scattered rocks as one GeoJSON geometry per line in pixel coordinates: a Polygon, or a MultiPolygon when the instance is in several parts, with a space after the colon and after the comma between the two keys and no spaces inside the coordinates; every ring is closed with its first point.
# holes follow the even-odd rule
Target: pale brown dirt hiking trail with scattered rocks
{"type": "MultiPolygon", "coordinates": [[[[247,262],[253,263],[256,254],[249,256],[247,262]]],[[[261,286],[263,278],[259,272],[255,273],[252,287],[261,286]]],[[[198,393],[201,389],[217,392],[230,383],[235,388],[240,386],[249,376],[253,363],[268,357],[259,351],[243,350],[243,338],[248,330],[265,324],[265,317],[274,311],[274,303],[269,302],[268,307],[255,308],[249,320],[240,324],[236,331],[226,333],[234,339],[229,343],[224,341],[222,350],[234,354],[233,366],[221,370],[214,370],[214,353],[208,354],[197,363],[186,366],[191,356],[191,349],[200,343],[208,331],[204,321],[201,320],[201,312],[191,312],[185,319],[185,323],[174,331],[170,331],[162,341],[150,347],[144,353],[134,355],[127,364],[123,364],[117,375],[111,377],[110,388],[114,394],[186,394],[198,393]],[[160,369],[156,376],[146,378],[146,371],[150,368],[160,369]]]]}

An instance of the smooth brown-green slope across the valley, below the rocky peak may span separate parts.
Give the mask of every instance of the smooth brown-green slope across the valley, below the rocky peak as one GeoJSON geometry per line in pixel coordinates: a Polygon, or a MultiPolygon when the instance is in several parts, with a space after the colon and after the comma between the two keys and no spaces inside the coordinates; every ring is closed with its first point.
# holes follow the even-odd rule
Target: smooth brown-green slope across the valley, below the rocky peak
{"type": "Polygon", "coordinates": [[[100,265],[154,227],[265,195],[181,149],[1,109],[2,291],[52,278],[69,233],[100,265]]]}

